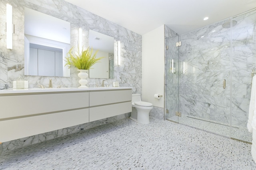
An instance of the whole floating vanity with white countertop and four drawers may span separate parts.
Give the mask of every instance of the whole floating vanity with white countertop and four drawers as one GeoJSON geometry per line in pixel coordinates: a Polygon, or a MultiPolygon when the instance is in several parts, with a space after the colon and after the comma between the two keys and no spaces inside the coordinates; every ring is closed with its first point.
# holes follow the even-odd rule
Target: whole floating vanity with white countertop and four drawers
{"type": "Polygon", "coordinates": [[[0,142],[132,111],[132,88],[0,90],[0,142]]]}

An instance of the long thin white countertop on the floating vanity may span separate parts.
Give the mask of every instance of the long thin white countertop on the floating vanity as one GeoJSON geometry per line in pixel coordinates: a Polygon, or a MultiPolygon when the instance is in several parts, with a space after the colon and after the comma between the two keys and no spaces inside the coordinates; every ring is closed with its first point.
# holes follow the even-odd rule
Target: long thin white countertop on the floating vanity
{"type": "Polygon", "coordinates": [[[95,91],[95,90],[122,90],[132,89],[132,87],[89,87],[89,88],[24,88],[24,89],[4,89],[0,90],[0,94],[16,94],[16,93],[42,93],[42,92],[74,92],[74,91],[95,91]]]}

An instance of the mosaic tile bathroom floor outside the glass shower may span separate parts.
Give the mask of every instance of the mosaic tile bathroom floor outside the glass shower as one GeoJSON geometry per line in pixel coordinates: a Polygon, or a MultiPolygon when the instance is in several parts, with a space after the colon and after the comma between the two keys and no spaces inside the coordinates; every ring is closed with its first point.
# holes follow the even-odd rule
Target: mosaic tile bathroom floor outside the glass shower
{"type": "Polygon", "coordinates": [[[251,145],[150,117],[123,119],[4,152],[8,170],[256,170],[251,145]]]}

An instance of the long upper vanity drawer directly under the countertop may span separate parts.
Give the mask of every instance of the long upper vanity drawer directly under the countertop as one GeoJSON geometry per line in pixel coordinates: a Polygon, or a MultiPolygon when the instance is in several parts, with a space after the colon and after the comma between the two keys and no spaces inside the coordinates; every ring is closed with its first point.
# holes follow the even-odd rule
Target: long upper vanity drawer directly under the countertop
{"type": "Polygon", "coordinates": [[[89,107],[88,92],[0,96],[0,119],[89,107]]]}

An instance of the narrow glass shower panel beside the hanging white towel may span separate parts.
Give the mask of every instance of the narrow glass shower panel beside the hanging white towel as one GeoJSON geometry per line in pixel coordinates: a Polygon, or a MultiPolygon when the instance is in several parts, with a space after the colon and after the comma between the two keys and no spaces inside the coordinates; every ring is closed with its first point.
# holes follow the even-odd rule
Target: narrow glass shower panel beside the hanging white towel
{"type": "Polygon", "coordinates": [[[232,18],[231,138],[252,142],[247,121],[252,69],[256,70],[256,10],[232,18]]]}

